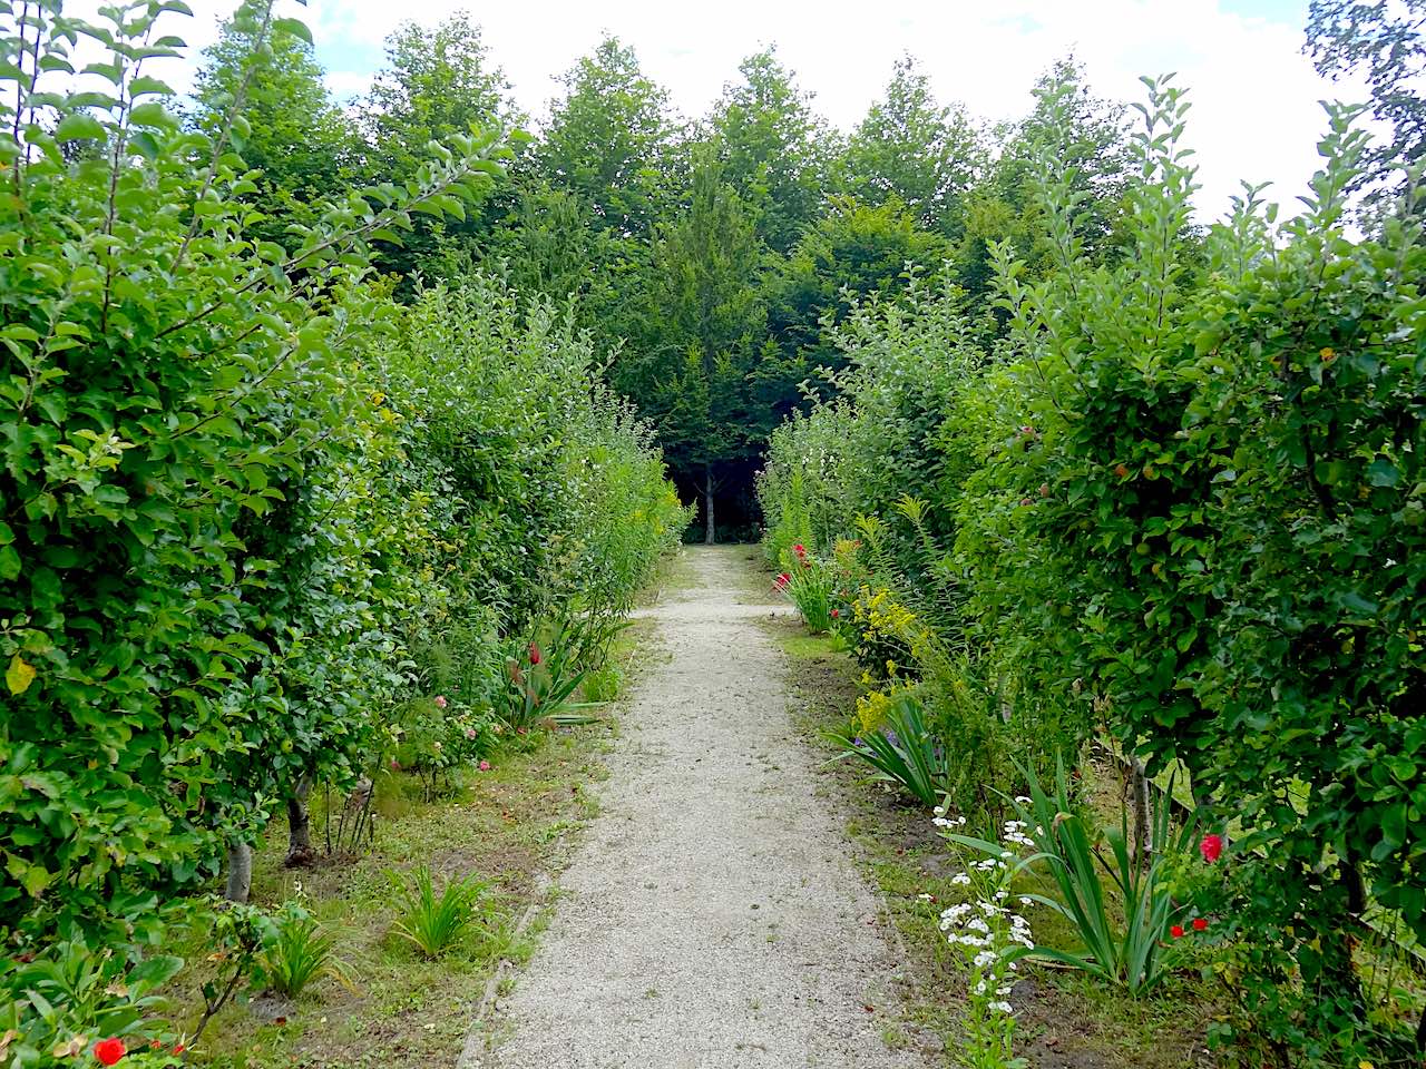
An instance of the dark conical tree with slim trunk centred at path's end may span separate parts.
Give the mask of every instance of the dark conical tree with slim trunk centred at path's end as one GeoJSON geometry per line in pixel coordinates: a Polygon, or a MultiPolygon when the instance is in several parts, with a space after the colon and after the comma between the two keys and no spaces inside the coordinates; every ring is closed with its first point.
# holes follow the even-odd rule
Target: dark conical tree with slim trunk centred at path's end
{"type": "Polygon", "coordinates": [[[659,428],[669,465],[700,482],[709,543],[720,472],[770,429],[749,389],[767,316],[760,258],[752,214],[704,150],[689,207],[653,245],[646,334],[616,369],[620,389],[659,428]]]}

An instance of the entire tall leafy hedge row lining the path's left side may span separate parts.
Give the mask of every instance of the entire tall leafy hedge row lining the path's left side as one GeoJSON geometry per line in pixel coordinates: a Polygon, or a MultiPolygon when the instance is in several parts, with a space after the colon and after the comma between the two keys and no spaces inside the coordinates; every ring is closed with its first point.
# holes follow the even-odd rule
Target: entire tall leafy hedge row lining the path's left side
{"type": "Polygon", "coordinates": [[[348,185],[345,114],[274,83],[305,29],[241,7],[235,87],[185,121],[145,70],[170,7],[4,7],[7,1065],[148,1039],[153,948],[215,924],[220,877],[245,898],[274,815],[309,858],[315,784],[369,805],[378,770],[435,783],[559,714],[687,522],[566,301],[496,268],[396,301],[369,268],[506,182],[495,133],[348,185]],[[107,60],[73,91],[81,37],[107,60]]]}

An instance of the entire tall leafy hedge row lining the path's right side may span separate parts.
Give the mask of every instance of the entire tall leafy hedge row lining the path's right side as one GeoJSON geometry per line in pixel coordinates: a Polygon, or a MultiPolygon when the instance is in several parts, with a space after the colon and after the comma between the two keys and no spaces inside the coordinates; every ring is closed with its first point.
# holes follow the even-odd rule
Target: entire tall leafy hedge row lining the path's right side
{"type": "Polygon", "coordinates": [[[1135,875],[1119,854],[1124,919],[1085,914],[1079,968],[1148,989],[1195,916],[1198,962],[1226,981],[1219,1043],[1415,1063],[1426,1025],[1382,959],[1426,939],[1420,171],[1353,239],[1368,143],[1329,108],[1303,214],[1273,225],[1249,188],[1185,241],[1186,101],[1151,86],[1129,255],[1095,265],[1068,101],[1042,103],[1061,118],[1031,175],[1054,269],[992,247],[992,345],[954,275],[834,331],[840,392],[774,432],[760,479],[769,557],[868,668],[848,757],[987,840],[1025,820],[1005,845],[1032,841],[1084,901],[1112,862],[1082,844],[1164,859],[1135,875]],[[1062,773],[1058,798],[1038,781],[1105,740],[1139,763],[1138,831],[1077,841],[1084,801],[1062,773]],[[1196,807],[1196,875],[1147,812],[1165,771],[1196,807]],[[1142,948],[1118,974],[1111,931],[1142,948]]]}

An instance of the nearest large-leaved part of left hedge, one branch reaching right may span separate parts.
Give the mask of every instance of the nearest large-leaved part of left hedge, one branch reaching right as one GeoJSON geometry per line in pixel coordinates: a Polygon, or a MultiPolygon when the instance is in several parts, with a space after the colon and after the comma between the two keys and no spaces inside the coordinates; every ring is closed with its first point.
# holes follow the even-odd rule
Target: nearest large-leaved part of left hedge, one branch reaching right
{"type": "MultiPolygon", "coordinates": [[[[264,4],[241,19],[274,24],[264,4]]],[[[3,76],[19,108],[0,143],[0,812],[14,881],[0,925],[116,921],[144,939],[151,895],[210,875],[268,798],[345,774],[352,710],[392,686],[359,657],[331,671],[337,646],[379,657],[372,631],[405,609],[347,526],[339,480],[386,449],[347,356],[386,329],[364,249],[412,211],[459,211],[499,168],[489,140],[462,138],[409,190],[329,202],[291,251],[254,244],[254,182],[143,73],[175,54],[134,43],[167,14],[138,4],[114,20],[27,7],[41,38],[27,61],[51,73],[70,33],[117,34],[107,91],[3,76]],[[30,123],[41,110],[54,134],[30,123]],[[100,151],[70,158],[73,137],[100,151]],[[314,700],[318,687],[332,690],[314,700]]]]}

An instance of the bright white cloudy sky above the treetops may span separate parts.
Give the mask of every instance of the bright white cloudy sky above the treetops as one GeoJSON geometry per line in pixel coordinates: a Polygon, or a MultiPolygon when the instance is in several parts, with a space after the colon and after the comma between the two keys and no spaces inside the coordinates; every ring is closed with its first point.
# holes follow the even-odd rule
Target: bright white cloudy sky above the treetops
{"type": "MultiPolygon", "coordinates": [[[[282,0],[314,30],[318,58],[339,95],[361,93],[382,63],[382,40],[404,20],[435,23],[449,0],[282,0]]],[[[231,0],[190,0],[175,27],[194,46],[212,38],[231,0]]],[[[766,44],[791,67],[813,105],[848,130],[881,95],[891,64],[910,51],[943,101],[990,120],[1024,114],[1035,77],[1074,51],[1099,95],[1139,100],[1141,74],[1176,71],[1191,90],[1188,140],[1198,150],[1199,215],[1216,218],[1239,178],[1271,181],[1288,214],[1316,168],[1322,98],[1365,98],[1360,86],[1319,78],[1302,54],[1308,0],[667,0],[465,4],[492,58],[536,120],[555,76],[605,31],[632,44],[645,71],[686,115],[702,114],[739,61],[766,44]]],[[[183,78],[171,78],[181,81],[183,78]]]]}

